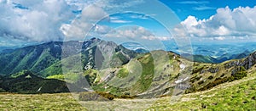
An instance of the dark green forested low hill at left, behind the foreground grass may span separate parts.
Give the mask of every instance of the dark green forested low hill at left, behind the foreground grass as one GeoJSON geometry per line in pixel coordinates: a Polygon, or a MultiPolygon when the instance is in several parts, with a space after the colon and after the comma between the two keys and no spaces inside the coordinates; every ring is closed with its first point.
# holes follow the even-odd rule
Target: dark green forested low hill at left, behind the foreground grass
{"type": "Polygon", "coordinates": [[[0,88],[4,92],[19,93],[56,93],[69,92],[67,83],[63,80],[44,79],[23,70],[10,77],[0,78],[0,88]]]}

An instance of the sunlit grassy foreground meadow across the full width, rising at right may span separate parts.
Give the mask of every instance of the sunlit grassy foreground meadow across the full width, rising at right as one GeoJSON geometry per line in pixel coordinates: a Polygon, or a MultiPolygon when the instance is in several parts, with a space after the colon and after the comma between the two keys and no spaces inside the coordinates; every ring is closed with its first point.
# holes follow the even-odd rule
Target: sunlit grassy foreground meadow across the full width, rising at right
{"type": "Polygon", "coordinates": [[[174,104],[170,97],[151,99],[114,99],[110,102],[77,102],[70,93],[6,94],[0,93],[3,110],[255,110],[256,73],[241,80],[227,82],[204,92],[183,95],[174,104]],[[84,107],[85,108],[84,108],[84,107]],[[100,107],[99,107],[100,106],[100,107]]]}

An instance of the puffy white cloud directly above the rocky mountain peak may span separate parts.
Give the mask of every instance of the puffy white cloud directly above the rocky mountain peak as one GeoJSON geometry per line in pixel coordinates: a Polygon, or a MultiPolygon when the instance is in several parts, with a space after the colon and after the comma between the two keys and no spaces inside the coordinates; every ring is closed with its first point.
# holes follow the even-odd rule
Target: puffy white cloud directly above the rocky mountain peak
{"type": "Polygon", "coordinates": [[[68,40],[81,40],[89,34],[90,31],[95,31],[100,34],[109,31],[108,26],[96,25],[98,21],[109,20],[108,13],[101,7],[91,4],[84,7],[79,18],[73,19],[71,24],[61,25],[60,30],[68,40]]]}

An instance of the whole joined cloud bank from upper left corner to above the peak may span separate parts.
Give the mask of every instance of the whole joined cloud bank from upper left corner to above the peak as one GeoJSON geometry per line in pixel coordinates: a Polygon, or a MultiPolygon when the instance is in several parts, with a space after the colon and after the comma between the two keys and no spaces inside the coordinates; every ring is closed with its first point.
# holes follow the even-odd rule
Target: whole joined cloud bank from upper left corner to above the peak
{"type": "Polygon", "coordinates": [[[110,20],[106,9],[128,8],[137,3],[143,0],[0,0],[0,37],[49,42],[84,39],[88,31],[105,34],[111,28],[96,22],[110,20]]]}

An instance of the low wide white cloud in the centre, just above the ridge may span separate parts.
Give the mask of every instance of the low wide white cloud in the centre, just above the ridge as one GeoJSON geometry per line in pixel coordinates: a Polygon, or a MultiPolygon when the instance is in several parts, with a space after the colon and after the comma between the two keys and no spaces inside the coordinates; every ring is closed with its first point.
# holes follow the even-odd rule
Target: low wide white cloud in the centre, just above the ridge
{"type": "Polygon", "coordinates": [[[125,25],[112,29],[107,34],[102,35],[101,38],[103,40],[116,42],[117,44],[137,42],[148,50],[165,50],[166,47],[162,41],[172,39],[168,36],[154,36],[154,33],[151,31],[137,25],[125,25]]]}

